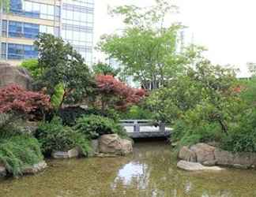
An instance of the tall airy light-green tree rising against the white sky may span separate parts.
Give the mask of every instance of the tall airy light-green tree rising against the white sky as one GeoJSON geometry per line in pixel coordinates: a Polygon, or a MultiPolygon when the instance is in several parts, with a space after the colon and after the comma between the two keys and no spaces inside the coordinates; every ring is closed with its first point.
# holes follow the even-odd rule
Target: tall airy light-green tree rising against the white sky
{"type": "Polygon", "coordinates": [[[121,35],[104,35],[98,44],[99,50],[121,62],[126,76],[133,76],[146,89],[164,86],[195,58],[189,53],[190,49],[179,50],[183,26],[164,27],[166,15],[175,11],[175,6],[165,1],[156,2],[151,8],[114,9],[112,13],[123,17],[126,28],[121,35]]]}

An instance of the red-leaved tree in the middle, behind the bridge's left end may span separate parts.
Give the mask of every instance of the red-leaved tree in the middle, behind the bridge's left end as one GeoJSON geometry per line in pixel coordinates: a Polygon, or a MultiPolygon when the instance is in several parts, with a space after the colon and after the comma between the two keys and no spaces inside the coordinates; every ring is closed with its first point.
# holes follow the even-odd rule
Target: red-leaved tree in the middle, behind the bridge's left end
{"type": "Polygon", "coordinates": [[[96,84],[99,93],[109,99],[115,99],[115,106],[120,109],[140,102],[146,95],[144,89],[129,87],[110,75],[96,76],[96,84]]]}

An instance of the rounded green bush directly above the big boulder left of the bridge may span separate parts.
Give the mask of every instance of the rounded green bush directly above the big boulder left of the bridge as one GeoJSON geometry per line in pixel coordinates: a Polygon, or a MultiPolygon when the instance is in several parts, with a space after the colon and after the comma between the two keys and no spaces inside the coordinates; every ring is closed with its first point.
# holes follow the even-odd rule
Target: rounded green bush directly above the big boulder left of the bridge
{"type": "Polygon", "coordinates": [[[77,125],[74,126],[77,132],[85,134],[89,139],[96,139],[105,134],[119,134],[119,136],[126,137],[126,132],[123,128],[107,117],[96,115],[83,116],[77,119],[77,125]]]}

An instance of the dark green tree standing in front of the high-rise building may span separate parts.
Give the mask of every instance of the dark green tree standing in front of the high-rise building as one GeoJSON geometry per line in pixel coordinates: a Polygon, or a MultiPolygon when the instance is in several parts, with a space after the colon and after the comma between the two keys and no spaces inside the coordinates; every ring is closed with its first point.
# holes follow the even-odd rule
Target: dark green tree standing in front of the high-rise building
{"type": "Polygon", "coordinates": [[[60,106],[63,102],[80,102],[92,91],[93,79],[88,66],[69,43],[54,35],[40,34],[35,45],[40,54],[38,65],[43,70],[36,81],[37,87],[46,87],[52,96],[56,87],[62,84],[64,94],[60,106]]]}

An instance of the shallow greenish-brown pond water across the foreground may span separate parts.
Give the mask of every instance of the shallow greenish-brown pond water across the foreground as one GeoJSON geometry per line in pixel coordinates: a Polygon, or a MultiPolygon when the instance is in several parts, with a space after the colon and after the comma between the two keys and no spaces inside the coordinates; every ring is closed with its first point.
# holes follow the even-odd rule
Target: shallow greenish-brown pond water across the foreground
{"type": "Polygon", "coordinates": [[[188,173],[164,141],[135,143],[127,158],[47,161],[43,173],[0,181],[0,196],[256,196],[256,171],[188,173]]]}

